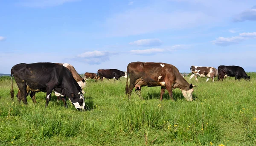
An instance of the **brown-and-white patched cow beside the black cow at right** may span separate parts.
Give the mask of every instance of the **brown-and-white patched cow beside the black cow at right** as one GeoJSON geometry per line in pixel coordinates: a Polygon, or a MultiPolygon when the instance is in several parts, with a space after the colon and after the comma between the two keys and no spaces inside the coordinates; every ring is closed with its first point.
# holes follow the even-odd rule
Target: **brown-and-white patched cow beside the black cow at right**
{"type": "Polygon", "coordinates": [[[218,70],[214,67],[201,67],[201,66],[191,66],[190,70],[192,75],[189,78],[189,81],[195,76],[195,80],[198,81],[197,77],[200,76],[202,78],[207,77],[206,81],[210,78],[214,81],[214,78],[218,76],[218,70]]]}

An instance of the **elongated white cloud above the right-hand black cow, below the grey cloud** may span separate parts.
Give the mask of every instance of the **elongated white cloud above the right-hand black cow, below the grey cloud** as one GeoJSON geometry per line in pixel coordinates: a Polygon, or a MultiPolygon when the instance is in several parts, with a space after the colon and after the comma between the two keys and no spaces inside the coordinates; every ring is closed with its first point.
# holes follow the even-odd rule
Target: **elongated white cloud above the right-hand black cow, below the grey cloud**
{"type": "Polygon", "coordinates": [[[211,41],[215,45],[220,46],[227,46],[227,45],[233,45],[238,44],[239,42],[243,41],[244,37],[242,36],[232,36],[232,37],[218,37],[216,40],[211,41]]]}

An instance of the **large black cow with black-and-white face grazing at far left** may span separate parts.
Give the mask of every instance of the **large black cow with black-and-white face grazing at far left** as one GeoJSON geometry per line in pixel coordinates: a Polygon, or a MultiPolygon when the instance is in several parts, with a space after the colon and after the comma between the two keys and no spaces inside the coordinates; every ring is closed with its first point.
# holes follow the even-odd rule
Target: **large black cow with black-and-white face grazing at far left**
{"type": "MultiPolygon", "coordinates": [[[[27,91],[46,92],[46,107],[51,98],[52,90],[62,96],[67,96],[78,110],[84,110],[84,95],[82,89],[71,72],[63,65],[49,62],[32,64],[20,63],[12,67],[11,77],[15,78],[24,104],[27,104],[27,91]]],[[[13,85],[11,98],[13,98],[13,85]]],[[[20,102],[20,98],[18,98],[20,102]]],[[[65,98],[65,105],[66,98],[65,98]]]]}

